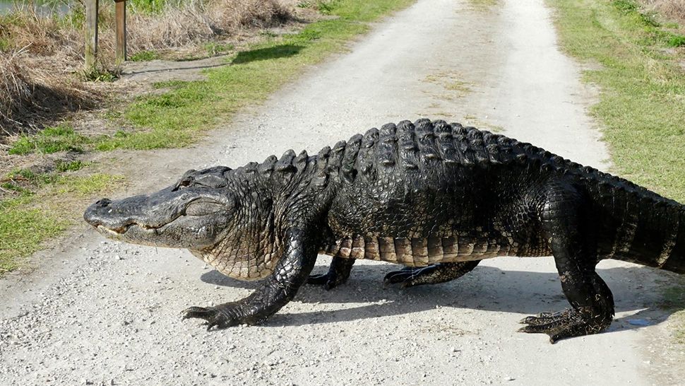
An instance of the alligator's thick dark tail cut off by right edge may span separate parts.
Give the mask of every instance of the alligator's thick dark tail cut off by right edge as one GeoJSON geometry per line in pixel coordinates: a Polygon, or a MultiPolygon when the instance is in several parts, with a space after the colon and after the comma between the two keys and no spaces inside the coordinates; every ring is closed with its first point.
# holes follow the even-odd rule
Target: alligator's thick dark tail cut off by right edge
{"type": "Polygon", "coordinates": [[[588,189],[597,204],[602,259],[685,274],[685,206],[618,177],[588,189]]]}

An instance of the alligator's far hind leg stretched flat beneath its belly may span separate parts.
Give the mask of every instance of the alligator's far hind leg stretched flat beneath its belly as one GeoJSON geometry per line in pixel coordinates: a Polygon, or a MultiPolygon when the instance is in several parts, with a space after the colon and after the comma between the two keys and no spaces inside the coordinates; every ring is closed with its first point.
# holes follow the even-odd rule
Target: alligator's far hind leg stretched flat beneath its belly
{"type": "Polygon", "coordinates": [[[458,279],[472,271],[480,262],[451,262],[429,265],[428,267],[405,267],[400,271],[388,272],[383,278],[383,285],[400,283],[400,287],[407,288],[422,284],[445,283],[458,279]]]}

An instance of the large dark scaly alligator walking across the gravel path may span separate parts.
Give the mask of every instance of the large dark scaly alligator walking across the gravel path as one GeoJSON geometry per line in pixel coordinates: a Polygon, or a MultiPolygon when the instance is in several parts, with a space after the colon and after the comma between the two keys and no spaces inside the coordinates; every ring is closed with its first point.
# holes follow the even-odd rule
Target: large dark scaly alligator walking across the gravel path
{"type": "Polygon", "coordinates": [[[258,324],[305,282],[344,283],[356,259],[403,264],[403,287],[443,283],[482,259],[552,255],[571,308],[519,331],[559,339],[602,332],[614,300],[602,259],[685,272],[685,206],[542,148],[457,123],[385,124],[325,147],[232,169],[189,170],[149,196],[102,199],[84,218],[116,240],[187,248],[250,296],[191,307],[207,328],[258,324]],[[318,254],[326,274],[309,276],[318,254]]]}

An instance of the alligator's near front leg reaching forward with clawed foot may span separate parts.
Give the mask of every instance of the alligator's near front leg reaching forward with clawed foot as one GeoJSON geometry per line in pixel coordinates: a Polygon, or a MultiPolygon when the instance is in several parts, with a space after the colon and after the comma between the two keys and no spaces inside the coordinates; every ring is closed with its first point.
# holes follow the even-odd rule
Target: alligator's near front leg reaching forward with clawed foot
{"type": "Polygon", "coordinates": [[[288,230],[285,252],[275,271],[254,293],[237,302],[188,308],[182,312],[183,319],[203,319],[207,322],[207,329],[263,322],[290,302],[306,281],[316,262],[316,245],[304,230],[288,230]]]}

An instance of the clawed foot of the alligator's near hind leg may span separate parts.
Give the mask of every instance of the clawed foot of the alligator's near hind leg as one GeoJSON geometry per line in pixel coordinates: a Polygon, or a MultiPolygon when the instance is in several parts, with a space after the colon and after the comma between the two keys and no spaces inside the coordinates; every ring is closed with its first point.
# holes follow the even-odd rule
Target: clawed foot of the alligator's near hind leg
{"type": "Polygon", "coordinates": [[[611,320],[588,322],[576,310],[568,309],[560,312],[542,312],[536,316],[525,317],[520,323],[528,325],[518,329],[519,332],[547,334],[549,342],[554,344],[560,339],[601,332],[609,327],[611,320]]]}

